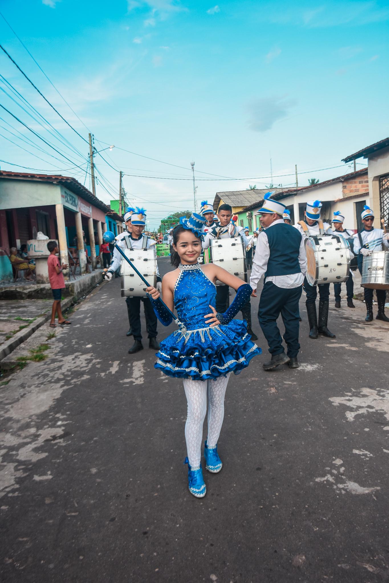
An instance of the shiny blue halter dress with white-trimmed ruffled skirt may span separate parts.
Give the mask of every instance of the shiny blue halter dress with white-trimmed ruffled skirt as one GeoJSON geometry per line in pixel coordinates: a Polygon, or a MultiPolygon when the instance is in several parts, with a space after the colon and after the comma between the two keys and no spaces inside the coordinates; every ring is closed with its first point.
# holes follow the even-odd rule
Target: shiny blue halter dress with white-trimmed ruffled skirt
{"type": "Polygon", "coordinates": [[[216,286],[201,267],[180,265],[174,286],[174,305],[178,319],[187,328],[177,330],[160,343],[155,368],[175,378],[205,381],[209,378],[239,374],[261,349],[247,333],[246,320],[210,328],[204,316],[215,306],[216,286]]]}

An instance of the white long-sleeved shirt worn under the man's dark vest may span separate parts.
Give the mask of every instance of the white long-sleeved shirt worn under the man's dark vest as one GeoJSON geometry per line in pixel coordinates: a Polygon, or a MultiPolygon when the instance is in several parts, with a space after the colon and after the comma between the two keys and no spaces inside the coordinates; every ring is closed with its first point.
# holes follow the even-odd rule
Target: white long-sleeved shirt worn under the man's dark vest
{"type": "MultiPolygon", "coordinates": [[[[267,229],[271,229],[274,224],[283,224],[283,219],[275,220],[267,229]]],[[[299,264],[301,273],[291,273],[290,275],[272,275],[266,278],[267,282],[274,283],[277,287],[290,289],[292,287],[299,287],[303,284],[304,276],[307,271],[307,257],[305,254],[305,238],[301,238],[299,250],[299,264]]],[[[255,248],[255,255],[253,259],[253,268],[251,269],[250,285],[255,291],[262,275],[267,270],[268,261],[270,257],[269,241],[265,231],[262,231],[257,238],[257,247],[255,248]]]]}

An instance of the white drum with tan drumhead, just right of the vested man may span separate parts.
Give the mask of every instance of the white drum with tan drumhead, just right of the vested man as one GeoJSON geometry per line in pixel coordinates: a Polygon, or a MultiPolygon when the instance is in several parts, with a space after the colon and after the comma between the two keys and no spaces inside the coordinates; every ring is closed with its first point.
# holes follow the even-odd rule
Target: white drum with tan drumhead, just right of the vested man
{"type": "Polygon", "coordinates": [[[351,251],[344,237],[317,235],[305,241],[307,280],[311,286],[341,283],[350,274],[351,251]]]}

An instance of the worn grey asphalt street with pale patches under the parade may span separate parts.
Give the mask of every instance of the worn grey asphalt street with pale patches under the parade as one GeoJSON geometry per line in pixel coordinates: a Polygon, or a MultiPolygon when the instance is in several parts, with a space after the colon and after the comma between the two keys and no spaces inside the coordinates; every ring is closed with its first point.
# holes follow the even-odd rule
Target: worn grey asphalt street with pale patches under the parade
{"type": "Polygon", "coordinates": [[[230,378],[223,469],[198,500],[182,381],[153,368],[146,333],[128,354],[120,279],[94,290],[0,386],[0,580],[389,580],[389,324],[331,293],[337,338],[308,338],[303,293],[301,366],[269,373],[251,298],[263,354],[230,378]]]}

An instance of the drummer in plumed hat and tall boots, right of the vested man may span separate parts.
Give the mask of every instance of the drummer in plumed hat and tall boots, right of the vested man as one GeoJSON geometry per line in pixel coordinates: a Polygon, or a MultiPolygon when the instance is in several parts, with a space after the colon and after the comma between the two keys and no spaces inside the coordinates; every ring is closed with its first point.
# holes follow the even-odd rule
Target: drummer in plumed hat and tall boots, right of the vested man
{"type": "MultiPolygon", "coordinates": [[[[305,219],[293,225],[300,231],[303,237],[311,237],[313,235],[323,235],[328,233],[332,235],[331,226],[328,223],[323,223],[320,219],[320,201],[309,201],[304,212],[305,219]]],[[[309,321],[309,338],[317,338],[318,334],[327,336],[328,338],[335,338],[327,328],[328,322],[328,308],[330,307],[330,284],[320,283],[318,286],[311,286],[307,278],[304,278],[304,291],[306,293],[306,307],[309,321]],[[319,291],[319,318],[317,321],[316,314],[316,298],[317,288],[319,291]]]]}

